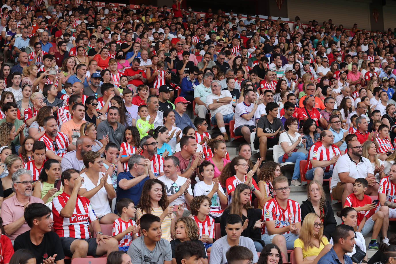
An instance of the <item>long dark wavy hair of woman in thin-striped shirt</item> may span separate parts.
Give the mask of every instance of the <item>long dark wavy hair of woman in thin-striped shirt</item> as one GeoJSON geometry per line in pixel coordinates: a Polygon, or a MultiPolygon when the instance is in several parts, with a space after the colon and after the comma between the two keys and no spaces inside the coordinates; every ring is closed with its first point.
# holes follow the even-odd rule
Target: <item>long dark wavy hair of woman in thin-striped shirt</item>
{"type": "Polygon", "coordinates": [[[161,188],[162,188],[162,197],[161,197],[160,201],[158,201],[158,205],[160,205],[160,207],[162,208],[163,211],[165,211],[166,207],[169,206],[169,199],[168,199],[168,195],[165,192],[164,182],[162,182],[158,179],[148,179],[143,184],[142,193],[141,193],[140,201],[139,201],[140,209],[142,210],[142,213],[151,213],[152,212],[149,193],[150,193],[151,187],[156,183],[160,184],[161,188]]]}

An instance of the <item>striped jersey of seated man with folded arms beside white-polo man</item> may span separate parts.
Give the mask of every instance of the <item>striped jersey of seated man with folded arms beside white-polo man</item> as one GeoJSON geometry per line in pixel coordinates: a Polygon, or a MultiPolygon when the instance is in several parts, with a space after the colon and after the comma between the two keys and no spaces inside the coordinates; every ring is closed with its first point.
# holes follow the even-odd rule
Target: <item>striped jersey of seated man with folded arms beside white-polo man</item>
{"type": "MultiPolygon", "coordinates": [[[[308,162],[305,166],[304,173],[313,168],[311,160],[329,161],[331,158],[337,155],[341,156],[341,151],[335,144],[331,145],[329,148],[326,148],[323,146],[322,141],[316,142],[309,149],[307,158],[308,162]]],[[[323,168],[323,170],[331,171],[333,168],[334,164],[330,164],[326,168],[323,168]]]]}

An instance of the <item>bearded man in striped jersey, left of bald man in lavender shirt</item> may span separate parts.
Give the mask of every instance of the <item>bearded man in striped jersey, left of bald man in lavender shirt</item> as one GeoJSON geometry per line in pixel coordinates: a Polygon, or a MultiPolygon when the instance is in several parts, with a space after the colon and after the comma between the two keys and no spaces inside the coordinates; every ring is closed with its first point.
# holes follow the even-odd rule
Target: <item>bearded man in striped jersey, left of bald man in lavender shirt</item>
{"type": "Polygon", "coordinates": [[[70,146],[67,135],[58,132],[58,125],[54,116],[46,116],[43,122],[44,130],[46,131],[39,141],[44,141],[46,144],[46,156],[48,159],[62,161],[63,155],[67,150],[73,150],[70,146]]]}

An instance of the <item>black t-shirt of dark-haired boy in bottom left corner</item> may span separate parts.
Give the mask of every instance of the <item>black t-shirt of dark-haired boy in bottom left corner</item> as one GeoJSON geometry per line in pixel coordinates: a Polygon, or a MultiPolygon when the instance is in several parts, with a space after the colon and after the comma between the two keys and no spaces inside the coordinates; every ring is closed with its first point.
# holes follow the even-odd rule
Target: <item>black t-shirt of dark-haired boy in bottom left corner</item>
{"type": "Polygon", "coordinates": [[[57,254],[55,261],[65,258],[61,239],[59,239],[59,236],[53,231],[45,233],[40,245],[37,246],[30,241],[30,230],[20,234],[15,238],[14,242],[14,250],[17,251],[18,249],[27,249],[32,252],[36,257],[37,263],[43,263],[43,259],[49,258],[55,253],[57,254]]]}

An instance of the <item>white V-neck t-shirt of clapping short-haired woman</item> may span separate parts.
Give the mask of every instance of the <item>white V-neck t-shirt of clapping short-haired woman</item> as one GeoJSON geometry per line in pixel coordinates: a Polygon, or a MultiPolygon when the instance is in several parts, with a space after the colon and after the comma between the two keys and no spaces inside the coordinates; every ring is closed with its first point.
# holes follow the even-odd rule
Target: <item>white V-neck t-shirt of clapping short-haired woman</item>
{"type": "MultiPolygon", "coordinates": [[[[105,173],[100,172],[99,173],[99,180],[97,184],[99,184],[100,179],[103,177],[105,173]]],[[[97,186],[97,184],[93,184],[91,179],[88,178],[88,176],[84,173],[81,174],[81,177],[84,178],[84,182],[82,183],[81,188],[87,189],[87,191],[92,190],[97,186]]],[[[110,175],[107,177],[106,182],[110,184],[111,186],[113,183],[111,182],[110,175]]],[[[105,186],[103,186],[94,196],[92,196],[89,201],[91,202],[92,209],[95,211],[95,215],[98,218],[103,217],[104,215],[107,215],[108,213],[111,213],[110,205],[109,205],[109,197],[107,196],[107,192],[105,189],[105,186]]]]}

